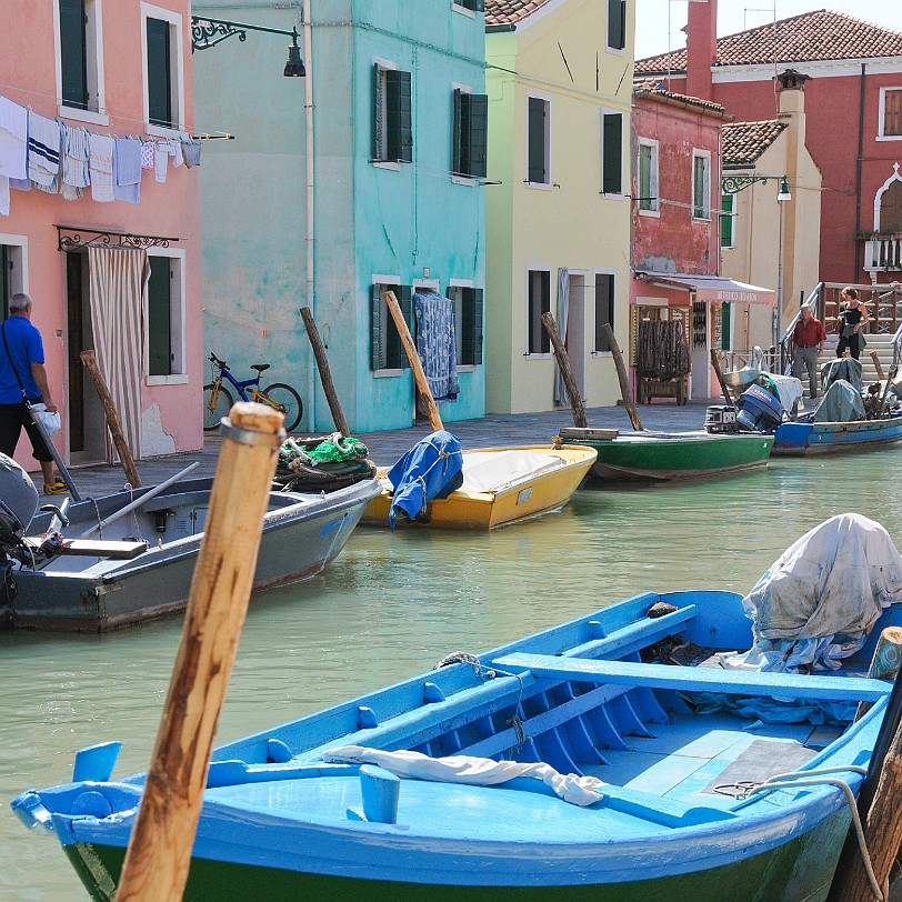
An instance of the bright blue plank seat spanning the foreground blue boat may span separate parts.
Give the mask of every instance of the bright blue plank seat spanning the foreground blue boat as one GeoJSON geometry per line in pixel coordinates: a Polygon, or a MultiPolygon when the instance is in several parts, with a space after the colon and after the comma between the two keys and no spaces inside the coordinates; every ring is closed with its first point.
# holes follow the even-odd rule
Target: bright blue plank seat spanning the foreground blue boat
{"type": "Polygon", "coordinates": [[[830,701],[879,701],[891,686],[860,676],[805,676],[794,673],[760,673],[748,670],[686,668],[676,664],[637,664],[631,661],[595,661],[551,654],[508,654],[492,661],[505,670],[528,670],[533,676],[591,683],[643,685],[693,692],[735,695],[799,695],[830,701]]]}

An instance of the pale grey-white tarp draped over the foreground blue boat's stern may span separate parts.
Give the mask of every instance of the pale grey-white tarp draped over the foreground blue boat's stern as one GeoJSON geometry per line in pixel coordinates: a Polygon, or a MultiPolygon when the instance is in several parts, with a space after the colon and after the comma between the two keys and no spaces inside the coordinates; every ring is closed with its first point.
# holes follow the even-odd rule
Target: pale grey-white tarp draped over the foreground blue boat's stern
{"type": "Polygon", "coordinates": [[[728,665],[836,670],[898,601],[902,558],[886,530],[858,513],[831,517],[790,545],[742,600],[754,644],[728,665]]]}

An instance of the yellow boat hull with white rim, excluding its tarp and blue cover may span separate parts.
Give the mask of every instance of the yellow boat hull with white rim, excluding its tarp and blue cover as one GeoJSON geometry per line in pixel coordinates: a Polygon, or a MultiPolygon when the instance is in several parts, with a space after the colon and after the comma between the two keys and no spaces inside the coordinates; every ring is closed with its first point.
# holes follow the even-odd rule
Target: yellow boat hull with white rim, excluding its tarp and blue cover
{"type": "MultiPolygon", "coordinates": [[[[554,454],[563,464],[553,470],[518,479],[492,492],[471,492],[463,489],[448,498],[434,499],[427,505],[420,520],[409,522],[398,519],[401,525],[432,527],[438,529],[488,530],[519,523],[533,517],[560,510],[570,501],[595,462],[598,452],[593,448],[568,444],[561,448],[548,445],[522,445],[517,448],[480,448],[463,452],[464,468],[468,453],[492,451],[531,451],[554,454]],[[402,522],[403,521],[403,522],[402,522]]],[[[379,471],[384,479],[389,468],[379,471]]],[[[387,527],[391,494],[383,490],[363,513],[361,523],[387,527]]]]}

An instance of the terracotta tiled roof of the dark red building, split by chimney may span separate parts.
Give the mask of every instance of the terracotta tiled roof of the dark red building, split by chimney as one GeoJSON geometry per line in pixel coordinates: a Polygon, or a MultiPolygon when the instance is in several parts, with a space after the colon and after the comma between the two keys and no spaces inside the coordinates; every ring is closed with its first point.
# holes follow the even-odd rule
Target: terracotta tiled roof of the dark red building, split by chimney
{"type": "MultiPolygon", "coordinates": [[[[902,57],[902,32],[821,9],[718,38],[714,66],[902,57]]],[[[637,74],[685,71],[685,48],[637,60],[637,74]]]]}

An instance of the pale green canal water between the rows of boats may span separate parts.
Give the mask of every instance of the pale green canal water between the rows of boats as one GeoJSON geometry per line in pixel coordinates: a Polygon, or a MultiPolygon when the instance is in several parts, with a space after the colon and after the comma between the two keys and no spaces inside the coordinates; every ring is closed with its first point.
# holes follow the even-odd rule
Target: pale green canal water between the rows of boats
{"type": "MultiPolygon", "coordinates": [[[[491,534],[358,529],[324,573],[255,597],[220,720],[224,742],[647,590],[745,593],[829,517],[856,511],[902,545],[902,448],[774,460],[693,484],[580,490],[491,534]]],[[[180,618],[102,637],[0,634],[0,902],[84,900],[56,840],[9,802],[66,782],[74,752],[121,740],[143,770],[180,618]]]]}

